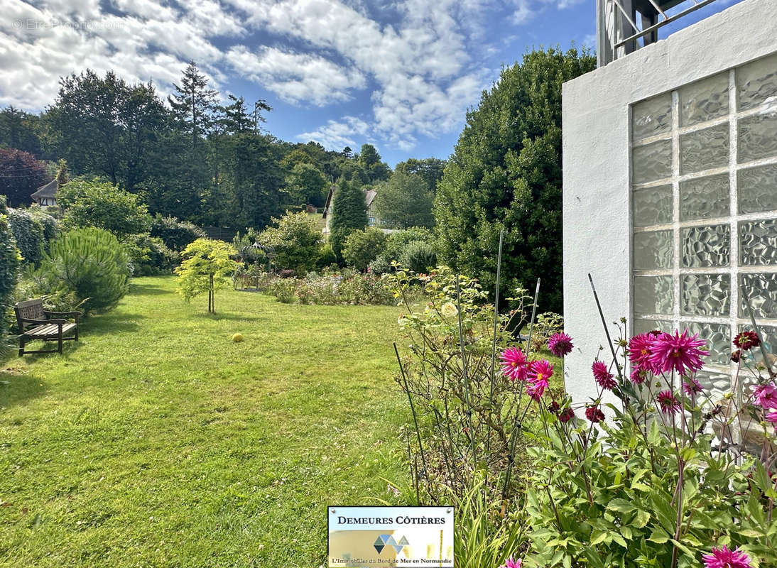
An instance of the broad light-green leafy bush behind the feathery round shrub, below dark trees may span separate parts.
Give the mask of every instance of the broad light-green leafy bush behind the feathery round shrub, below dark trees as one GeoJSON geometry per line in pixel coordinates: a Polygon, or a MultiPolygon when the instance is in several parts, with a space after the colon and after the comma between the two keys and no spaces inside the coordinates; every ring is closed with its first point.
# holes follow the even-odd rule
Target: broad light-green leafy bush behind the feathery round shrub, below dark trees
{"type": "Polygon", "coordinates": [[[148,232],[151,217],[138,196],[111,183],[75,179],[57,193],[67,228],[96,227],[121,238],[148,232]]]}

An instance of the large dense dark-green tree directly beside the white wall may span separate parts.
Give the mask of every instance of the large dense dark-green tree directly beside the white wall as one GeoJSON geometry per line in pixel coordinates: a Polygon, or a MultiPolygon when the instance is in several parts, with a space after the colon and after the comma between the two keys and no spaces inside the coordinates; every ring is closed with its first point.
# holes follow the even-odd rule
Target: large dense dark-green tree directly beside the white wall
{"type": "Polygon", "coordinates": [[[503,291],[534,289],[562,308],[561,85],[591,71],[577,50],[534,51],[502,71],[467,124],[437,185],[434,218],[444,263],[493,292],[504,229],[503,291]]]}

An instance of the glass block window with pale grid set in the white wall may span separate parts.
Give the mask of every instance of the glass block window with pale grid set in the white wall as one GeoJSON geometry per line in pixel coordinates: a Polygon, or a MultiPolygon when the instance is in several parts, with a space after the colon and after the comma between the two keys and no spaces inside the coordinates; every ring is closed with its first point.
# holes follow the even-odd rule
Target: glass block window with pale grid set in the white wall
{"type": "Polygon", "coordinates": [[[699,333],[723,392],[751,310],[777,350],[777,54],[634,104],[631,141],[632,333],[699,333]]]}

